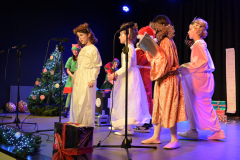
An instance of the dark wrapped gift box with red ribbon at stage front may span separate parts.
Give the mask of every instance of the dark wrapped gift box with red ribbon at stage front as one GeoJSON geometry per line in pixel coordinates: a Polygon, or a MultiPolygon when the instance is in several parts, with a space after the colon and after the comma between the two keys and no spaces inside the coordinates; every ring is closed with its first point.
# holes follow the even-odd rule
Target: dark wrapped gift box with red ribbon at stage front
{"type": "Polygon", "coordinates": [[[54,123],[53,160],[92,160],[93,127],[54,123]]]}

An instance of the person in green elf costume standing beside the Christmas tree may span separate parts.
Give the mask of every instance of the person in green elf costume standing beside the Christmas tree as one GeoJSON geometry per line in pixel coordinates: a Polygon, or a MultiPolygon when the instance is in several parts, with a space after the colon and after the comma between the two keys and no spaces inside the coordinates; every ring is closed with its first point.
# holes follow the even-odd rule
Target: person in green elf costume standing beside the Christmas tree
{"type": "Polygon", "coordinates": [[[71,94],[72,94],[72,78],[73,78],[74,72],[77,70],[77,57],[78,57],[79,51],[80,51],[80,46],[78,46],[78,44],[72,44],[73,55],[67,60],[67,63],[65,65],[65,68],[67,68],[67,73],[68,73],[68,79],[63,90],[64,94],[68,94],[66,104],[62,112],[62,115],[65,118],[67,118],[69,107],[70,107],[71,94]]]}

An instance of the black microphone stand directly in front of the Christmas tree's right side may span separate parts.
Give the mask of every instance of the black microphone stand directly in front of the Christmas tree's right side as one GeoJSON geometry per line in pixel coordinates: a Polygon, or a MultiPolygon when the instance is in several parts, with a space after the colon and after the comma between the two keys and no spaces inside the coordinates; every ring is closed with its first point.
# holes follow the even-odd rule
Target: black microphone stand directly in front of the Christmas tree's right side
{"type": "MultiPolygon", "coordinates": [[[[60,41],[59,46],[58,46],[58,56],[59,57],[59,53],[61,52],[61,69],[60,69],[60,107],[59,107],[59,122],[61,122],[61,109],[62,109],[62,72],[63,72],[63,51],[64,51],[64,47],[62,46],[62,41],[60,41]]],[[[55,70],[54,70],[55,73],[55,70]]],[[[54,75],[53,75],[54,76],[54,75]]],[[[52,87],[51,87],[52,88],[52,87]]],[[[50,92],[50,91],[49,91],[50,92]]],[[[47,130],[36,130],[33,133],[39,133],[39,132],[46,132],[46,131],[54,131],[54,129],[47,129],[47,130]]]]}

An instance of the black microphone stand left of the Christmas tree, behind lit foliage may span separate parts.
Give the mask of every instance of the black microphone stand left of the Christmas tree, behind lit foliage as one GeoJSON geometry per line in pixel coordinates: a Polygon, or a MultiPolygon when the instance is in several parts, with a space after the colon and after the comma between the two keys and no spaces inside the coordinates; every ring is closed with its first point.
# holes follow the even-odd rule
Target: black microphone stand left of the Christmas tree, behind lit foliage
{"type": "Polygon", "coordinates": [[[4,124],[16,124],[16,126],[18,127],[18,129],[20,129],[19,127],[19,123],[22,124],[34,124],[37,125],[37,123],[26,123],[26,122],[20,122],[19,118],[18,118],[18,106],[19,106],[19,101],[20,101],[20,94],[19,94],[19,86],[20,86],[20,58],[22,57],[22,53],[19,52],[19,48],[17,49],[17,57],[18,57],[18,93],[17,93],[17,116],[15,117],[14,122],[9,122],[9,123],[0,123],[1,125],[4,124]]]}

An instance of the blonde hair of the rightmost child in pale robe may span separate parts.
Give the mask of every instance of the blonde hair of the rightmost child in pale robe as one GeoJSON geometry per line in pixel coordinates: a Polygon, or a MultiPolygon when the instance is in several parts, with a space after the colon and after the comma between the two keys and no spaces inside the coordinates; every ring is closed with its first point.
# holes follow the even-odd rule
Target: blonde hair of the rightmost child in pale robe
{"type": "Polygon", "coordinates": [[[196,18],[192,21],[191,25],[193,28],[198,29],[198,34],[201,38],[206,38],[208,35],[207,29],[208,29],[208,23],[201,19],[201,18],[196,18]]]}

